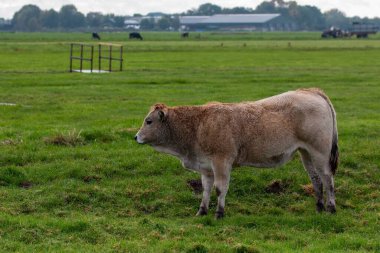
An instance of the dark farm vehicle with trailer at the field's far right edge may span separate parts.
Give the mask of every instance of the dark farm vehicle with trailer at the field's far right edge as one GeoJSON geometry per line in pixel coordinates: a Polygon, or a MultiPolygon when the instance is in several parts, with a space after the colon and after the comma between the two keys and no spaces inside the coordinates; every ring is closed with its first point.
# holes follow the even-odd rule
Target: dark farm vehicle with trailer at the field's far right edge
{"type": "Polygon", "coordinates": [[[379,27],[372,24],[363,24],[360,22],[352,23],[351,28],[348,31],[341,30],[334,26],[330,29],[322,32],[322,38],[344,38],[356,36],[356,38],[368,38],[369,34],[375,34],[379,30],[379,27]]]}

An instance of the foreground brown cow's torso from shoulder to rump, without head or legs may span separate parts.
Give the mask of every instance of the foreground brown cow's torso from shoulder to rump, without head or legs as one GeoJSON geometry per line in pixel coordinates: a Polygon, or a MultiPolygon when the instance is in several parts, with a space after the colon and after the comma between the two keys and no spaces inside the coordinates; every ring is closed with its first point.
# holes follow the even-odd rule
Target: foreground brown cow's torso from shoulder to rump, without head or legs
{"type": "Polygon", "coordinates": [[[271,167],[309,143],[330,145],[331,112],[312,90],[256,102],[213,103],[202,109],[197,144],[203,153],[228,156],[237,165],[271,167]]]}

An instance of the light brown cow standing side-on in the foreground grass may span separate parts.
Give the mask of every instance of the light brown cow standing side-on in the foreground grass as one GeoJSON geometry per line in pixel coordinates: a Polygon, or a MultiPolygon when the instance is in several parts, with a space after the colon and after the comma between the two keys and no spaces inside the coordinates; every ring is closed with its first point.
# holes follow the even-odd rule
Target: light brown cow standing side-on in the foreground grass
{"type": "Polygon", "coordinates": [[[232,167],[275,167],[301,153],[313,183],[317,211],[335,212],[333,175],[338,166],[335,110],[319,89],[300,89],[256,102],[167,107],[156,104],[136,141],[178,157],[202,175],[197,215],[208,211],[210,192],[218,196],[216,218],[224,215],[232,167]]]}

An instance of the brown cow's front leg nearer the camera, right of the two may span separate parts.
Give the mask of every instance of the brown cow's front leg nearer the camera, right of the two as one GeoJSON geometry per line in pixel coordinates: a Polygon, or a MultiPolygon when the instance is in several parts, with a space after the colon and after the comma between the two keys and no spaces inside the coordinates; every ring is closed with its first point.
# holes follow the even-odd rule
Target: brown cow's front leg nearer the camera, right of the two
{"type": "Polygon", "coordinates": [[[212,161],[212,170],[214,172],[216,195],[218,196],[215,218],[220,219],[224,217],[224,206],[230,182],[231,165],[224,159],[214,159],[212,161]]]}

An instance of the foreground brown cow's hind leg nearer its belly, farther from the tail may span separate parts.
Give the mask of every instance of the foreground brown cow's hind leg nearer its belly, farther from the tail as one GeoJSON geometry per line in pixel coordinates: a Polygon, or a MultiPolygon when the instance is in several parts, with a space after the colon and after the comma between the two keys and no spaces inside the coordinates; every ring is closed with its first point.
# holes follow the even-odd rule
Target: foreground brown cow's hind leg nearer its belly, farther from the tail
{"type": "Polygon", "coordinates": [[[322,212],[323,210],[325,210],[325,206],[323,204],[323,184],[321,178],[315,170],[309,153],[307,153],[307,151],[305,150],[300,150],[300,153],[303,166],[309,174],[311,183],[313,184],[317,212],[322,212]]]}

